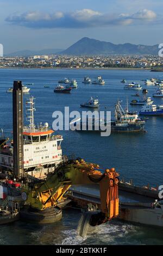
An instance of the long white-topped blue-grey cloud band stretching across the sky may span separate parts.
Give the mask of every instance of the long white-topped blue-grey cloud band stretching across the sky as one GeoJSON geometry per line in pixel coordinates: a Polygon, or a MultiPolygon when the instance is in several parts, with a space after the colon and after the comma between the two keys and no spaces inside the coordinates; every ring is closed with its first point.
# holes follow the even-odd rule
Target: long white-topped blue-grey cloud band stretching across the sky
{"type": "Polygon", "coordinates": [[[7,17],[6,21],[15,25],[32,28],[86,28],[104,27],[109,25],[127,26],[156,19],[152,10],[142,9],[134,14],[102,14],[91,9],[76,10],[72,13],[39,13],[30,11],[21,15],[7,17]]]}

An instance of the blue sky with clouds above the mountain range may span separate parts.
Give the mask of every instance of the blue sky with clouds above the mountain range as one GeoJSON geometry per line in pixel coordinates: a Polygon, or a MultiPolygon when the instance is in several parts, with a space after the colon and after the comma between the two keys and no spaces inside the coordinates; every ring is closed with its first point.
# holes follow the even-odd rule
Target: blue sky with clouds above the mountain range
{"type": "Polygon", "coordinates": [[[162,0],[0,0],[4,54],[65,49],[84,36],[155,45],[162,28],[162,0]]]}

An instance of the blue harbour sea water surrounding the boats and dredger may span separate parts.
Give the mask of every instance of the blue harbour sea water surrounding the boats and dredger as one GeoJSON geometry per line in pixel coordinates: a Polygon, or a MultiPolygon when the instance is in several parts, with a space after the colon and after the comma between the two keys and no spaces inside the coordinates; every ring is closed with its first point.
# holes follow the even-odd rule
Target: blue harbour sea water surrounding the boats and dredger
{"type": "MultiPolygon", "coordinates": [[[[81,112],[80,103],[90,96],[98,96],[101,103],[100,110],[108,110],[114,115],[117,99],[133,100],[131,94],[135,91],[124,90],[120,81],[139,82],[147,88],[149,96],[154,92],[153,86],[145,86],[141,80],[145,78],[161,78],[163,72],[146,70],[51,70],[51,69],[0,69],[0,108],[1,122],[6,136],[12,131],[12,94],[5,91],[12,86],[14,80],[22,80],[23,84],[34,83],[29,86],[30,94],[36,97],[35,123],[48,122],[52,126],[52,113],[56,110],[64,112],[69,106],[70,111],[81,112]],[[106,81],[104,86],[83,84],[84,76],[92,79],[101,75],[106,81]],[[53,89],[59,79],[75,78],[78,88],[70,95],[55,94],[53,89]],[[48,85],[50,88],[43,88],[48,85]]],[[[27,95],[24,95],[24,101],[27,95]]],[[[163,104],[163,99],[154,99],[156,104],[163,104]]],[[[130,109],[139,110],[140,106],[130,109]]],[[[83,110],[83,109],[82,109],[83,110]]],[[[101,167],[115,167],[121,178],[133,179],[136,185],[161,185],[162,174],[162,117],[150,117],[146,124],[146,133],[111,134],[101,137],[95,132],[60,131],[64,136],[62,150],[65,155],[83,157],[86,161],[96,162],[101,167]]],[[[25,222],[15,222],[0,227],[0,244],[163,244],[161,229],[143,227],[117,220],[96,228],[86,239],[76,233],[80,211],[64,210],[62,220],[51,225],[35,225],[25,222]],[[14,230],[14,233],[13,233],[14,230]]]]}

